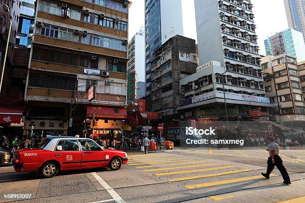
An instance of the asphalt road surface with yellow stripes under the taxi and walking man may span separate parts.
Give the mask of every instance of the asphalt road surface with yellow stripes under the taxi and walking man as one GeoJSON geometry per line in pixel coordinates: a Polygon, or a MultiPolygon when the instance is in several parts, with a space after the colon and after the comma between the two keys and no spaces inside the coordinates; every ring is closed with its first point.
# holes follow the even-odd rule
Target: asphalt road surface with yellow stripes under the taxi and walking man
{"type": "Polygon", "coordinates": [[[290,186],[276,168],[269,180],[261,176],[268,158],[263,148],[132,152],[119,171],[69,171],[51,179],[5,165],[0,203],[305,203],[305,148],[281,150],[281,156],[290,186]]]}

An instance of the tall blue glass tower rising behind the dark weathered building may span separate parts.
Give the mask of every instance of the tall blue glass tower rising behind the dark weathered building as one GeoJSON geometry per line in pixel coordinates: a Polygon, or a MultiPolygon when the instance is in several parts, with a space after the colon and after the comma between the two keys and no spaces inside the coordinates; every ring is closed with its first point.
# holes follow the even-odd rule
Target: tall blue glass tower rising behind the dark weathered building
{"type": "Polygon", "coordinates": [[[145,63],[146,106],[151,111],[152,64],[155,52],[167,39],[176,34],[183,36],[181,0],[145,1],[145,63]]]}

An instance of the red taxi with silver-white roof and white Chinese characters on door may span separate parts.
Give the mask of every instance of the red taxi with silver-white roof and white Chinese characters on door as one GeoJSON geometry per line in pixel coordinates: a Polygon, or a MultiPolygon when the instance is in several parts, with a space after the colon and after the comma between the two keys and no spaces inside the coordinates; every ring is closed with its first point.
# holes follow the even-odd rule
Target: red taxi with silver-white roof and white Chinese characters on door
{"type": "Polygon", "coordinates": [[[65,170],[119,170],[127,161],[127,153],[105,149],[88,138],[50,136],[37,148],[17,150],[12,164],[16,172],[39,172],[51,178],[65,170]]]}

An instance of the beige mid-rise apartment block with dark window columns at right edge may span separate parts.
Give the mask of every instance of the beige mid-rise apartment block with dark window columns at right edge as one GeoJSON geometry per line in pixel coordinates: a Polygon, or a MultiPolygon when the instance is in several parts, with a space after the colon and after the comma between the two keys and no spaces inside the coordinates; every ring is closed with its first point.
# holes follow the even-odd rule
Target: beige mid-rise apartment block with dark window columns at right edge
{"type": "Polygon", "coordinates": [[[287,54],[262,58],[271,119],[287,126],[305,124],[305,104],[297,60],[287,54]]]}

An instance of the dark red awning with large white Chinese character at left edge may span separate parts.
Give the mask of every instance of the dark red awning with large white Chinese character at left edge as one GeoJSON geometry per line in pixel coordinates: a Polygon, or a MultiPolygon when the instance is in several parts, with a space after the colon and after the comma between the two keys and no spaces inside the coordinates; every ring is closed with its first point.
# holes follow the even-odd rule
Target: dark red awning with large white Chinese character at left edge
{"type": "Polygon", "coordinates": [[[1,106],[0,123],[11,124],[20,123],[23,107],[21,106],[1,106]]]}

